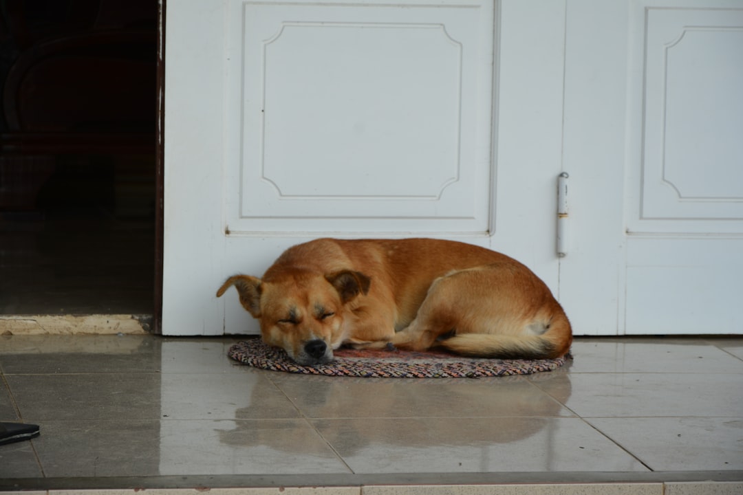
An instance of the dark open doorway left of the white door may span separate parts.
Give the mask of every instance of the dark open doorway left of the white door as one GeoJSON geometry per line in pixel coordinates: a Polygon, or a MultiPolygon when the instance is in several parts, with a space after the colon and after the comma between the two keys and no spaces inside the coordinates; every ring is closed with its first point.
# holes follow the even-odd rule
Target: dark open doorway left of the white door
{"type": "Polygon", "coordinates": [[[0,313],[155,315],[158,1],[0,5],[0,313]]]}

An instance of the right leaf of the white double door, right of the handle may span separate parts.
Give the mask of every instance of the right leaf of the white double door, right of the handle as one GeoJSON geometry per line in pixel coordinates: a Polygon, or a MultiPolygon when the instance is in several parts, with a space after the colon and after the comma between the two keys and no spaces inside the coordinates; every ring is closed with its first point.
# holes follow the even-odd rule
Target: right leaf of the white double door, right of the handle
{"type": "Polygon", "coordinates": [[[574,330],[743,333],[743,3],[575,0],[565,19],[574,330]]]}

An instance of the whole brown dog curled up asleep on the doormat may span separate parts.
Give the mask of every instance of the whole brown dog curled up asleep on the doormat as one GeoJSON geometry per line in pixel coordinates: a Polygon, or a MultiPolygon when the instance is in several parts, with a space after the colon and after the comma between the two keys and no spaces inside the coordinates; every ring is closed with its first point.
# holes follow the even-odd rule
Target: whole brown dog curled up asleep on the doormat
{"type": "Polygon", "coordinates": [[[540,359],[572,341],[565,312],[530,269],[451,240],[312,240],[263,278],[228,278],[217,297],[233,285],[263,340],[305,365],[331,361],[344,344],[540,359]]]}

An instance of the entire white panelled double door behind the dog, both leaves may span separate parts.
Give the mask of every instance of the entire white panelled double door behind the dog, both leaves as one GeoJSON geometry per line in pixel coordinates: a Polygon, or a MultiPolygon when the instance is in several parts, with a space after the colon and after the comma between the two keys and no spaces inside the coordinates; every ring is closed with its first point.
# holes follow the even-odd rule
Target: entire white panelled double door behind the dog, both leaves
{"type": "Polygon", "coordinates": [[[579,335],[743,332],[740,7],[169,2],[163,333],[256,332],[215,289],[322,236],[505,252],[579,335]]]}

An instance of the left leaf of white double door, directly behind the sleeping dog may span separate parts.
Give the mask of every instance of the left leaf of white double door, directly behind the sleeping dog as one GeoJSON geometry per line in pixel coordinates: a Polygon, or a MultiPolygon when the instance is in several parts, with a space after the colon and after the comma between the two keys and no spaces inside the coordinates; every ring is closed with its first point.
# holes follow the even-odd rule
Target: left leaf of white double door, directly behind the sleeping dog
{"type": "Polygon", "coordinates": [[[166,15],[164,334],[256,332],[215,289],[322,236],[465,240],[557,292],[564,3],[181,0],[166,15]]]}

